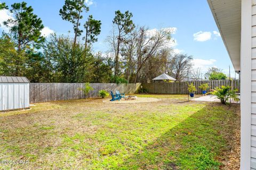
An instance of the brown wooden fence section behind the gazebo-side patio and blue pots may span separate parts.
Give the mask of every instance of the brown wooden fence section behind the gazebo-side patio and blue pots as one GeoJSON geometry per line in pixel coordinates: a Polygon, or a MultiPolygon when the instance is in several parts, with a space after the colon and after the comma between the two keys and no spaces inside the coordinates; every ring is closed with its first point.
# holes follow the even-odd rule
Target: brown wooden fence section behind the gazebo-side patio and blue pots
{"type": "MultiPolygon", "coordinates": [[[[202,90],[199,86],[204,83],[208,83],[210,89],[221,86],[229,86],[229,80],[203,80],[203,81],[189,81],[189,84],[193,82],[196,87],[196,94],[202,94],[202,90]]],[[[163,82],[163,83],[142,83],[141,86],[148,90],[151,94],[188,94],[188,82],[163,82]]],[[[239,80],[230,81],[231,89],[240,89],[239,80]]]]}

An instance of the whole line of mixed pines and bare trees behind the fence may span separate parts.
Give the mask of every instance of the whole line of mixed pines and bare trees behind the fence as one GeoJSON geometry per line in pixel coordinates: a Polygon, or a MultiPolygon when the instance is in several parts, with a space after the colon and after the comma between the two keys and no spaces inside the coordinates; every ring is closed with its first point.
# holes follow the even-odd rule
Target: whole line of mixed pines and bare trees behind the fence
{"type": "Polygon", "coordinates": [[[95,20],[85,0],[66,0],[59,14],[73,25],[74,37],[45,38],[42,20],[26,2],[7,6],[13,18],[0,37],[0,74],[25,76],[31,82],[150,82],[167,73],[181,81],[191,68],[191,56],[176,54],[171,44],[172,28],[149,30],[135,26],[132,13],[115,12],[113,30],[107,37],[109,50],[93,52],[101,21],[95,20]]]}

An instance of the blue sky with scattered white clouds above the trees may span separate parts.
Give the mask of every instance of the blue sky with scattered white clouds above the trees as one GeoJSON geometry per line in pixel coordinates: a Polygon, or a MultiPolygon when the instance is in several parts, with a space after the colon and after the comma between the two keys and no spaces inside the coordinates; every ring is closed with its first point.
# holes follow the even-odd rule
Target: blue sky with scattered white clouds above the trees
{"type": "MultiPolygon", "coordinates": [[[[1,0],[1,2],[6,2],[10,6],[15,2],[22,1],[1,0]]],[[[46,32],[53,30],[58,35],[66,34],[68,31],[73,33],[72,25],[63,21],[59,15],[64,0],[25,0],[25,2],[34,8],[34,13],[43,20],[44,26],[49,28],[46,29],[46,32]]],[[[218,28],[206,0],[87,0],[87,3],[90,4],[90,11],[84,14],[84,19],[92,14],[94,19],[102,22],[101,34],[98,37],[98,42],[94,44],[95,52],[98,50],[106,52],[108,50],[105,39],[111,30],[115,11],[121,10],[124,12],[129,10],[133,13],[133,22],[136,25],[147,25],[149,29],[177,28],[173,35],[177,45],[173,48],[181,53],[192,55],[195,67],[201,67],[202,72],[207,67],[217,66],[228,73],[228,66],[230,65],[233,72],[231,76],[234,76],[233,66],[222,39],[218,35],[218,28]]],[[[3,11],[0,12],[0,22],[5,15],[3,11]]],[[[73,36],[73,34],[70,34],[70,36],[73,36]]]]}

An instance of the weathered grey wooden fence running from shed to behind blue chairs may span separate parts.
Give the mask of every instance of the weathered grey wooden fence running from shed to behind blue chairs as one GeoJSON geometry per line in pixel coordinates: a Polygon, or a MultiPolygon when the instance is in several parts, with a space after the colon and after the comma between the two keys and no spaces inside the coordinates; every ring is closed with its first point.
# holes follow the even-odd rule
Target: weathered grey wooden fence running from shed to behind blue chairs
{"type": "MultiPolygon", "coordinates": [[[[85,83],[30,83],[29,100],[30,103],[82,99],[86,96],[82,90],[85,83]]],[[[88,97],[98,97],[99,90],[115,91],[121,93],[133,94],[140,87],[141,83],[115,84],[115,83],[91,83],[93,91],[88,97]]]]}

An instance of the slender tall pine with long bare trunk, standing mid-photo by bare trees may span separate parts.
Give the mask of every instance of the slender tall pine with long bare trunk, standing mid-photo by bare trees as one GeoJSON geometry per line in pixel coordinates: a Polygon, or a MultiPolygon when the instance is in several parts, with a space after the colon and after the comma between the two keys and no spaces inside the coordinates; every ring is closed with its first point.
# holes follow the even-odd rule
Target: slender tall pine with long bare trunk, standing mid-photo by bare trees
{"type": "Polygon", "coordinates": [[[132,13],[129,13],[129,11],[125,11],[125,13],[122,13],[118,10],[115,12],[115,18],[113,20],[113,24],[115,24],[117,28],[117,44],[115,44],[115,76],[119,74],[120,45],[123,42],[123,38],[127,35],[127,33],[131,32],[135,28],[135,25],[131,20],[132,16],[132,13]]]}

